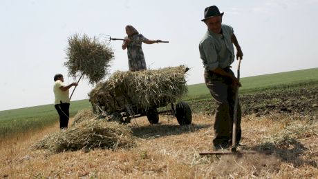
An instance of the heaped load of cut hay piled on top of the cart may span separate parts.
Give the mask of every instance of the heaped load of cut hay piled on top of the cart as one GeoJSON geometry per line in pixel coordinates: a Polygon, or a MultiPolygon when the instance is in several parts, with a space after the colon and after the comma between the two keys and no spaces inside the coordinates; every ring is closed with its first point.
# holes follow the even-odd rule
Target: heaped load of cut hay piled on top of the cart
{"type": "Polygon", "coordinates": [[[88,94],[91,103],[108,110],[135,105],[147,110],[162,107],[187,93],[184,65],[159,70],[115,72],[104,83],[99,83],[88,94]],[[162,106],[161,106],[162,105],[162,106]]]}

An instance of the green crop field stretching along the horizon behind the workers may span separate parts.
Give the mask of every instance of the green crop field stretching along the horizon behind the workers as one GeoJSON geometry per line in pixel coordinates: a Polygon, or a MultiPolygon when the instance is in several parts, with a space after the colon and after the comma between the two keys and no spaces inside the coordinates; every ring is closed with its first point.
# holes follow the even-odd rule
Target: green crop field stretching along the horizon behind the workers
{"type": "MultiPolygon", "coordinates": [[[[297,70],[277,74],[266,74],[241,78],[240,94],[264,92],[264,90],[280,89],[286,87],[299,87],[302,85],[318,84],[318,68],[297,70]]],[[[211,98],[204,83],[189,85],[189,92],[183,100],[195,101],[211,98]]],[[[71,116],[78,110],[91,107],[88,100],[73,101],[71,103],[71,116]]],[[[40,129],[58,122],[58,115],[53,105],[41,105],[12,109],[0,112],[0,138],[40,129]]]]}

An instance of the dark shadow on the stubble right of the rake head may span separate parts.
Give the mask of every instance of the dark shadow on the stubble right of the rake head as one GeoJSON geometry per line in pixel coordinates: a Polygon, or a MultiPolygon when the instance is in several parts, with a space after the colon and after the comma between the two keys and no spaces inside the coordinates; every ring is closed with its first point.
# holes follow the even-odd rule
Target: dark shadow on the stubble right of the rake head
{"type": "Polygon", "coordinates": [[[261,154],[273,155],[283,162],[292,163],[294,167],[301,165],[318,167],[315,160],[303,160],[303,158],[301,158],[302,154],[308,150],[308,148],[295,139],[291,139],[288,143],[262,143],[261,145],[250,147],[250,149],[258,151],[261,154]]]}

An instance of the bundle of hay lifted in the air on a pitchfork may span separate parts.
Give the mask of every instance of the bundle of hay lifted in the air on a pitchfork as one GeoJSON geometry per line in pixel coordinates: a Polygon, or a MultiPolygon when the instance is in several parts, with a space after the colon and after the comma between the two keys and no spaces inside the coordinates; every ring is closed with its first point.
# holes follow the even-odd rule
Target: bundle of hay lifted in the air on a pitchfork
{"type": "Polygon", "coordinates": [[[68,67],[68,75],[77,78],[84,74],[93,84],[108,74],[113,50],[95,36],[89,38],[86,34],[82,37],[75,34],[68,39],[66,55],[68,61],[64,65],[68,67]]]}

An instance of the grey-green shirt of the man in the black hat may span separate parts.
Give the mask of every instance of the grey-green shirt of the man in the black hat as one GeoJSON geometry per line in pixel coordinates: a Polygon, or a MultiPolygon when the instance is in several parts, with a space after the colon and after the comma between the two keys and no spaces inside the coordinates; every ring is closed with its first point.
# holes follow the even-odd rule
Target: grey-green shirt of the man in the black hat
{"type": "Polygon", "coordinates": [[[234,46],[232,44],[233,28],[222,24],[222,34],[207,30],[200,41],[200,58],[206,70],[215,70],[216,67],[225,68],[234,61],[234,46]]]}

